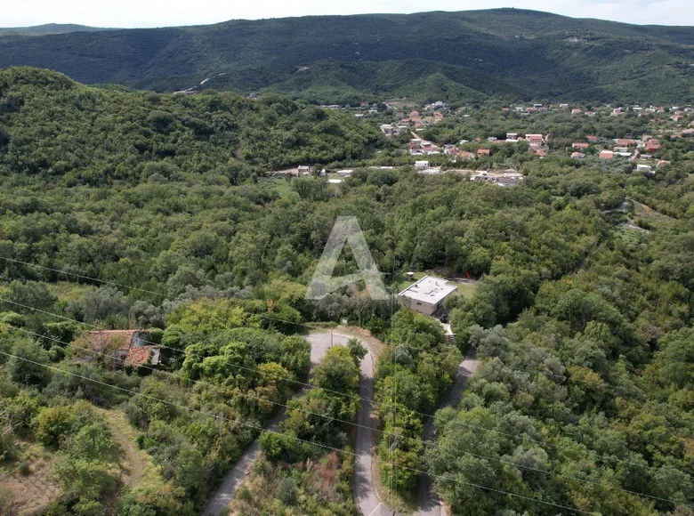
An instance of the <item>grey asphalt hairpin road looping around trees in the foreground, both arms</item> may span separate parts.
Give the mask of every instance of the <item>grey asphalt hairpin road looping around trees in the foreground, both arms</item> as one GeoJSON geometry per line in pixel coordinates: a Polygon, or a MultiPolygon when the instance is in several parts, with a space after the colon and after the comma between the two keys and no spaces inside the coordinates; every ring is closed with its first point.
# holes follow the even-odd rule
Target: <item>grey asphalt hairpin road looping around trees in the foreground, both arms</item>
{"type": "MultiPolygon", "coordinates": [[[[351,337],[330,332],[321,332],[308,335],[306,340],[311,343],[311,369],[316,367],[325,357],[326,351],[333,345],[344,346],[351,337]]],[[[363,342],[363,341],[362,341],[363,342]]],[[[368,350],[368,347],[367,347],[368,350]]],[[[303,389],[296,392],[295,396],[301,396],[303,389]]],[[[371,351],[361,360],[361,377],[359,379],[359,396],[362,398],[359,408],[357,427],[357,447],[355,459],[354,497],[357,500],[359,511],[363,516],[390,516],[385,507],[379,502],[375,494],[374,481],[371,474],[371,433],[375,421],[371,417],[371,402],[365,399],[374,397],[374,359],[371,351]]],[[[277,430],[279,423],[285,418],[285,409],[279,411],[268,427],[277,430]]],[[[217,489],[209,504],[207,504],[203,516],[220,516],[222,511],[233,500],[238,486],[246,478],[255,459],[260,454],[260,445],[256,439],[246,448],[246,451],[238,459],[237,464],[222,481],[222,486],[217,489]]]]}

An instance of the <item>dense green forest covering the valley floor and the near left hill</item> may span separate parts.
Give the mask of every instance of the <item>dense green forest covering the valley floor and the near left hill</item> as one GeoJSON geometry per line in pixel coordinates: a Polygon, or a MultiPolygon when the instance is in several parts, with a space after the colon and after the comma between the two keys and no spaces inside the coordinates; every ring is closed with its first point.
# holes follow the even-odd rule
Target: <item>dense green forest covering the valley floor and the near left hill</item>
{"type": "MultiPolygon", "coordinates": [[[[569,141],[586,131],[545,123],[569,141]]],[[[591,123],[617,138],[630,122],[591,123]]],[[[374,455],[399,509],[426,471],[456,514],[691,514],[692,141],[667,144],[672,163],[655,174],[519,151],[504,163],[524,181],[500,188],[417,174],[404,157],[369,168],[397,142],[275,95],[3,70],[0,512],[19,512],[14,487],[41,479],[47,515],[196,514],[262,436],[235,513],[354,514],[365,349],[332,348],[309,377],[303,338],[347,319],[383,343],[374,455]],[[355,170],[338,184],[267,175],[304,162],[355,170]],[[454,343],[363,285],[305,299],[343,215],[392,292],[408,270],[479,280],[446,300],[454,343]],[[133,328],[163,367],[117,359],[117,340],[90,344],[89,331],[133,328]],[[436,412],[471,349],[478,373],[436,412]]],[[[352,270],[345,251],[335,275],[352,270]]]]}

